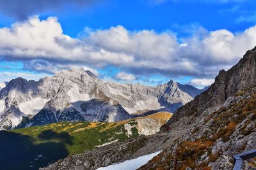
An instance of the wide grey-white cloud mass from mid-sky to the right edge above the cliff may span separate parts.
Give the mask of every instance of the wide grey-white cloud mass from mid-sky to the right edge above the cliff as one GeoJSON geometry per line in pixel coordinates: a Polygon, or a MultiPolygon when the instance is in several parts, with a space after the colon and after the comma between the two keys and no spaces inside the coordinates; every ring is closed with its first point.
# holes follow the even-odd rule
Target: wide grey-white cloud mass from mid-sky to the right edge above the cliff
{"type": "Polygon", "coordinates": [[[122,26],[87,31],[84,41],[110,52],[134,56],[129,67],[134,73],[213,76],[239,60],[256,45],[256,26],[236,34],[225,29],[195,34],[182,43],[172,32],[127,31],[122,26]]]}

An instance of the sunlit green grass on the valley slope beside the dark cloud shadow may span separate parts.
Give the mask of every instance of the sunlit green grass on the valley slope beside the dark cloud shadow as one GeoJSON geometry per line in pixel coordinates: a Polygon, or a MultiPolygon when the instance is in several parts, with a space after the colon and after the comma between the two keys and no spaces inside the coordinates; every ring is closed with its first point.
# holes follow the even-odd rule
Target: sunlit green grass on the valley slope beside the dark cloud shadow
{"type": "MultiPolygon", "coordinates": [[[[33,139],[33,144],[35,145],[47,142],[62,143],[65,148],[67,148],[68,154],[83,153],[84,150],[92,150],[95,146],[116,139],[118,139],[118,141],[128,139],[126,135],[127,131],[124,129],[124,123],[93,123],[97,124],[96,127],[90,127],[90,124],[89,122],[62,122],[15,129],[8,132],[29,136],[29,138],[33,139]],[[107,125],[110,126],[108,129],[106,129],[107,125]],[[77,131],[79,129],[81,129],[81,131],[77,131]],[[67,134],[68,142],[66,142],[66,139],[59,138],[58,136],[58,134],[64,134],[64,132],[67,134]],[[48,135],[49,137],[45,138],[44,135],[48,135]]],[[[132,136],[129,136],[129,138],[136,137],[138,137],[138,131],[134,127],[132,136]]]]}

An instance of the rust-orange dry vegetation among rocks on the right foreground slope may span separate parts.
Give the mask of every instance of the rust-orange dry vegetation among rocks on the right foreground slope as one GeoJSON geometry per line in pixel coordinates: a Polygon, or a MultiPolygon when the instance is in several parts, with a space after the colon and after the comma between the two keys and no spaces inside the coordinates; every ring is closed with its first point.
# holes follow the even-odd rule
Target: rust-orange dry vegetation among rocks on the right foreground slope
{"type": "MultiPolygon", "coordinates": [[[[220,110],[211,113],[208,118],[205,119],[204,124],[208,124],[209,131],[204,131],[204,126],[195,127],[192,132],[192,136],[196,136],[199,132],[204,131],[204,135],[200,138],[194,138],[191,141],[182,141],[178,139],[176,142],[177,149],[166,148],[158,157],[150,160],[150,162],[141,167],[141,169],[186,169],[191,167],[195,169],[211,169],[208,166],[209,162],[215,162],[221,155],[220,152],[212,154],[212,146],[218,139],[221,139],[224,143],[230,140],[230,136],[236,131],[236,127],[239,123],[243,122],[247,117],[249,118],[241,132],[244,135],[248,135],[253,132],[253,129],[246,130],[250,122],[256,118],[256,93],[255,88],[247,88],[239,92],[236,97],[239,97],[237,102],[229,104],[227,107],[220,108],[220,110]],[[207,153],[207,160],[200,160],[202,155],[207,153]],[[152,168],[154,167],[154,168],[152,168]]],[[[172,145],[172,147],[175,144],[172,145]]],[[[243,147],[244,148],[244,147],[243,147]]],[[[243,148],[241,151],[243,151],[243,148]]],[[[255,162],[250,163],[252,165],[255,162]]]]}

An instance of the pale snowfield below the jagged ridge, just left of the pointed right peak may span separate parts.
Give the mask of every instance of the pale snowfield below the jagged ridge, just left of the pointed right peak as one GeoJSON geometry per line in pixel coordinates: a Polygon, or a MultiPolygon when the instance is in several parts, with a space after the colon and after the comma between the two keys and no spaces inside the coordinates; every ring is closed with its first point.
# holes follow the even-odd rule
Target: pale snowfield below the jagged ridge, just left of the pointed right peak
{"type": "Polygon", "coordinates": [[[164,107],[159,104],[157,98],[151,98],[145,101],[138,101],[133,108],[124,107],[124,109],[128,111],[128,113],[130,114],[137,113],[138,111],[143,111],[143,110],[159,110],[161,108],[164,108],[164,107]]]}

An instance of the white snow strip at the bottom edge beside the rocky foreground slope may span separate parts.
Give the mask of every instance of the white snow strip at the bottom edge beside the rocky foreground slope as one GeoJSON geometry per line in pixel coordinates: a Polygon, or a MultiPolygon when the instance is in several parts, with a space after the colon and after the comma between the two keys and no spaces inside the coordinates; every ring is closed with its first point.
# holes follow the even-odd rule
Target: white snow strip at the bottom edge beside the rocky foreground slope
{"type": "Polygon", "coordinates": [[[119,170],[119,169],[135,170],[135,169],[138,169],[139,167],[147,164],[148,160],[151,160],[153,157],[158,155],[160,152],[161,152],[161,150],[159,152],[151,153],[149,155],[143,155],[136,159],[125,160],[122,163],[113,164],[111,166],[106,166],[106,167],[100,167],[97,170],[119,170]]]}

